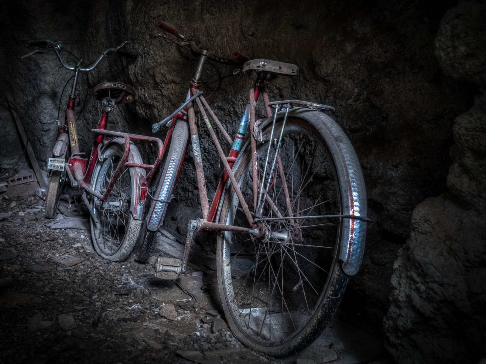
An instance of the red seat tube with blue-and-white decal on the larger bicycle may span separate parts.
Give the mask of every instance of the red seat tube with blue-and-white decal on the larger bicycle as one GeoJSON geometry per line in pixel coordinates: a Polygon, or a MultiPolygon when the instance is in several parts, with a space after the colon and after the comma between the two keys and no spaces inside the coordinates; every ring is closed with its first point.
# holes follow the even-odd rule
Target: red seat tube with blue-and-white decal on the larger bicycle
{"type": "MultiPolygon", "coordinates": [[[[255,105],[257,104],[258,97],[260,96],[260,91],[261,91],[261,87],[255,87],[255,105]]],[[[238,129],[238,132],[235,135],[233,146],[231,147],[231,150],[229,152],[228,155],[229,158],[236,159],[236,157],[238,157],[238,154],[240,153],[240,149],[242,148],[244,135],[248,131],[249,125],[250,125],[250,102],[248,101],[248,103],[246,104],[246,109],[244,111],[244,114],[240,122],[240,128],[238,129]]],[[[230,167],[233,166],[233,163],[234,162],[228,161],[228,165],[230,167]]],[[[211,207],[209,208],[209,214],[208,214],[209,222],[213,222],[214,220],[214,216],[216,215],[219,201],[221,199],[221,194],[223,193],[223,188],[227,180],[228,180],[228,174],[226,173],[225,170],[223,171],[221,180],[219,181],[218,187],[216,188],[216,192],[214,193],[214,198],[211,202],[211,207]]]]}

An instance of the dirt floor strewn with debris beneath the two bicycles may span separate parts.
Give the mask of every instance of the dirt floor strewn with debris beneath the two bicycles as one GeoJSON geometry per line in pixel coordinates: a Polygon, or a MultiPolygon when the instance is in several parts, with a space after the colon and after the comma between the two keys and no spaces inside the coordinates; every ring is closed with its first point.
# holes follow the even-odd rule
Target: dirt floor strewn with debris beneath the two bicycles
{"type": "MultiPolygon", "coordinates": [[[[99,257],[88,220],[79,218],[82,205],[61,201],[66,217],[54,221],[44,218],[44,206],[35,196],[0,198],[1,363],[290,364],[304,357],[314,361],[301,363],[347,364],[381,355],[380,340],[334,320],[307,351],[264,357],[227,328],[211,257],[186,277],[201,281],[190,291],[184,279],[154,278],[153,265],[136,263],[133,254],[122,263],[99,257]],[[63,229],[69,226],[79,229],[63,229]]],[[[163,244],[182,247],[162,236],[152,262],[163,244]]]]}

